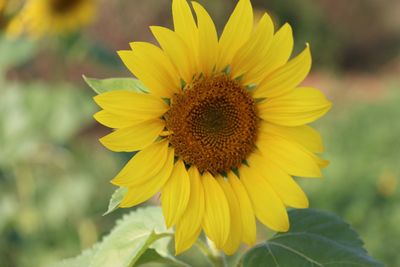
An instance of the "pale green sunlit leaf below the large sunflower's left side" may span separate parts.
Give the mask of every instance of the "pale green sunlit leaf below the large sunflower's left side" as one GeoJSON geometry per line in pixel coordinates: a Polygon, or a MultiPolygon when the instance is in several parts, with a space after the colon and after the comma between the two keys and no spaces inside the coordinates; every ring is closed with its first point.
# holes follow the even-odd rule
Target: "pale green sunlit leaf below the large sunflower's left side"
{"type": "Polygon", "coordinates": [[[168,266],[185,266],[168,250],[171,236],[171,230],[165,228],[160,207],[139,208],[118,221],[111,233],[93,249],[51,267],[131,267],[137,266],[139,260],[142,264],[155,261],[168,263],[168,266]]]}

